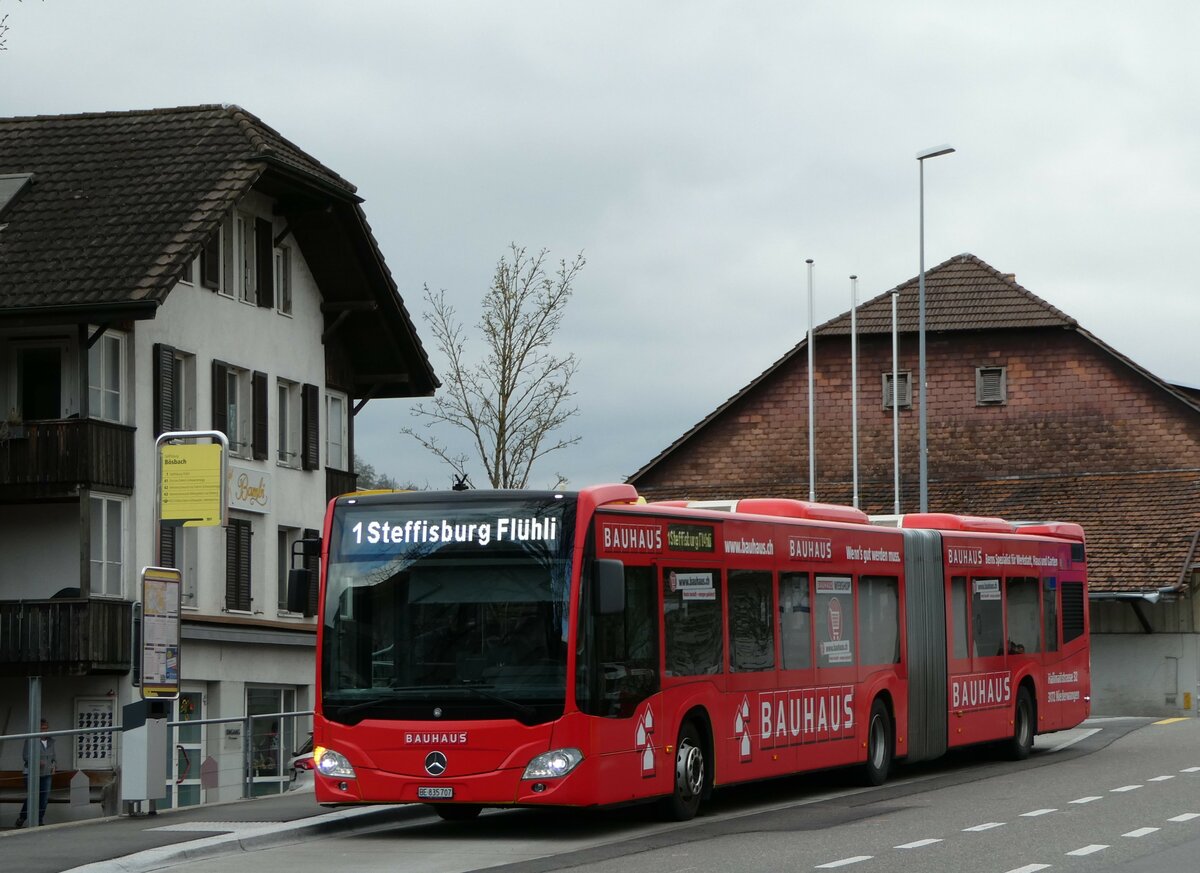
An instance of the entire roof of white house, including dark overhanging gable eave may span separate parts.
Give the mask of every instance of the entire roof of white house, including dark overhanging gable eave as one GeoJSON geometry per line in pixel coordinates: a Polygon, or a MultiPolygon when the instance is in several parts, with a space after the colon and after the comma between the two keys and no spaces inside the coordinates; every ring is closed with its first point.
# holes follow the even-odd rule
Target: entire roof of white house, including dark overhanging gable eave
{"type": "Polygon", "coordinates": [[[256,187],[288,228],[352,365],[354,397],[438,385],[353,185],[236,106],[0,119],[0,324],[154,318],[256,187]],[[331,317],[332,318],[332,317],[331,317]]]}

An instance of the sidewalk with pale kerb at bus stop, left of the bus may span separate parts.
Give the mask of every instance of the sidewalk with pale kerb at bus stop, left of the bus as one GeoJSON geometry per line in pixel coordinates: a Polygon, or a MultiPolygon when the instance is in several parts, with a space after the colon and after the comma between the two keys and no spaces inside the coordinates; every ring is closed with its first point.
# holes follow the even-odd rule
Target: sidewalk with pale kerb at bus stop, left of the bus
{"type": "Polygon", "coordinates": [[[2,867],[22,873],[142,873],[187,859],[373,830],[427,814],[422,806],[328,809],[311,790],[206,803],[157,815],[0,831],[2,867]]]}

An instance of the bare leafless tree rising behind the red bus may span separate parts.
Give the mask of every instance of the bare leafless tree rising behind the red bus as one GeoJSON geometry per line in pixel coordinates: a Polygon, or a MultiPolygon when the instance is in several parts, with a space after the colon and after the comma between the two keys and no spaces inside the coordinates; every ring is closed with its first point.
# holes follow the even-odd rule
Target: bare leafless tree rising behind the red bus
{"type": "MultiPolygon", "coordinates": [[[[470,457],[439,441],[431,432],[434,427],[467,434],[492,488],[524,488],[534,463],[580,441],[554,435],[578,413],[570,405],[578,362],[574,354],[554,355],[551,343],[587,261],[582,253],[570,264],[560,260],[551,276],[546,254],[542,249],[529,255],[512,243],[509,255],[500,257],[476,325],[485,345],[482,360],[468,356],[467,331],[445,291],[434,294],[425,287],[430,307],[425,320],[446,359],[448,373],[442,393],[413,409],[413,415],[426,420],[425,433],[412,427],[401,433],[448,464],[458,483],[467,481],[470,457]]],[[[556,487],[565,482],[562,474],[556,476],[556,487]]]]}

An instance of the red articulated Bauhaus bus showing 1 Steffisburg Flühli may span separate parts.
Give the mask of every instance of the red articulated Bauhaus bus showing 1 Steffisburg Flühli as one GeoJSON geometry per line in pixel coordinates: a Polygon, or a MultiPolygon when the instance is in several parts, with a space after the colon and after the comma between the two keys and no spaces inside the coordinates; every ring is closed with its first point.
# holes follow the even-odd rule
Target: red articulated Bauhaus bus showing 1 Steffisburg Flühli
{"type": "MultiPolygon", "coordinates": [[[[1084,531],[797,500],[362,493],[325,518],[317,800],[658,800],[1088,715],[1084,531]]],[[[302,576],[294,571],[294,579],[302,576]]],[[[301,585],[293,596],[304,595],[301,585]]]]}

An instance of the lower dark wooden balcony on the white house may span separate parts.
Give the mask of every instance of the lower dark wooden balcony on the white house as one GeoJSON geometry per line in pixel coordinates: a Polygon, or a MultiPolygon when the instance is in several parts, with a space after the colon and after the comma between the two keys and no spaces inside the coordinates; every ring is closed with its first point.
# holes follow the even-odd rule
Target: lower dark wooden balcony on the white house
{"type": "Polygon", "coordinates": [[[128,673],[132,621],[128,601],[0,601],[0,676],[128,673]]]}

